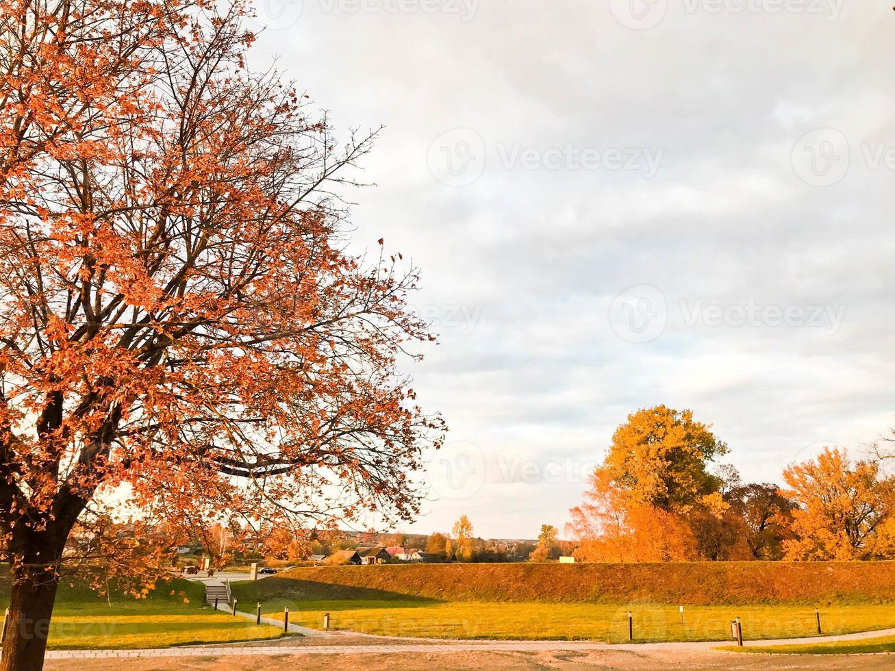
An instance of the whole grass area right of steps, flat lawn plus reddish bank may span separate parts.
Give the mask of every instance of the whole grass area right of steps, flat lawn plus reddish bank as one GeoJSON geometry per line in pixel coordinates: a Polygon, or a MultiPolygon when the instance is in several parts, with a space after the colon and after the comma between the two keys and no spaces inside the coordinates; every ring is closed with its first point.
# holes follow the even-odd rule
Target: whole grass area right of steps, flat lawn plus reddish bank
{"type": "Polygon", "coordinates": [[[895,626],[895,607],[885,599],[895,580],[875,565],[798,565],[797,575],[792,566],[302,568],[234,583],[234,596],[260,601],[274,617],[288,606],[295,624],[320,628],[329,613],[335,629],[455,639],[626,641],[629,609],[641,642],[724,641],[735,617],[750,640],[807,637],[815,634],[814,606],[821,607],[825,634],[895,626]],[[871,569],[866,580],[858,581],[856,567],[871,569]]]}

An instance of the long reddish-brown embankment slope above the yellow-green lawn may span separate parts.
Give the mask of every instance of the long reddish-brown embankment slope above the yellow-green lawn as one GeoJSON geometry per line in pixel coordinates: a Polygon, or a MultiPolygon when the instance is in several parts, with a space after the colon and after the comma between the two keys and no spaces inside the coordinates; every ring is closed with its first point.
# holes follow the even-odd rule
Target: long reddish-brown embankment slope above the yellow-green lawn
{"type": "Polygon", "coordinates": [[[371,599],[814,606],[895,601],[895,562],[323,566],[279,573],[258,589],[263,597],[315,585],[369,590],[371,599]]]}

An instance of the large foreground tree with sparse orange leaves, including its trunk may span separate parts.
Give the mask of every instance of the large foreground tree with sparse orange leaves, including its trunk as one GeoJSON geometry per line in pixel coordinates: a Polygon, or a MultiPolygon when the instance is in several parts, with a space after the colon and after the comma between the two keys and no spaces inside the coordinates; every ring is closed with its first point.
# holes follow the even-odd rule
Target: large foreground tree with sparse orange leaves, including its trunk
{"type": "Polygon", "coordinates": [[[258,529],[417,510],[406,474],[442,426],[396,371],[429,338],[415,271],[347,254],[338,197],[372,137],[340,149],[248,70],[244,13],[0,4],[3,668],[41,667],[112,492],[133,520],[258,529]]]}

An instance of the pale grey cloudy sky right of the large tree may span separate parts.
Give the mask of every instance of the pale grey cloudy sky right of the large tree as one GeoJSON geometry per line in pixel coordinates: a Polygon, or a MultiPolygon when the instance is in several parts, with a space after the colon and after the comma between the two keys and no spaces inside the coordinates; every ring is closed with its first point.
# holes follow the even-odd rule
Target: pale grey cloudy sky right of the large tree
{"type": "Polygon", "coordinates": [[[256,6],[256,68],[386,126],[354,243],[422,268],[451,427],[406,531],[561,528],[658,403],[745,480],[895,426],[891,1],[256,6]]]}

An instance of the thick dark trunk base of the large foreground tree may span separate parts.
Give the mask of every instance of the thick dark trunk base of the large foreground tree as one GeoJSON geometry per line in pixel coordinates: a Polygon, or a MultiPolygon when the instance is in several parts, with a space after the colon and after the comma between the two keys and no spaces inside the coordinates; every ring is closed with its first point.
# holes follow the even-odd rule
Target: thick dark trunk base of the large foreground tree
{"type": "Polygon", "coordinates": [[[19,575],[6,623],[2,671],[40,671],[44,667],[47,633],[53,615],[58,578],[52,573],[19,575]]]}

